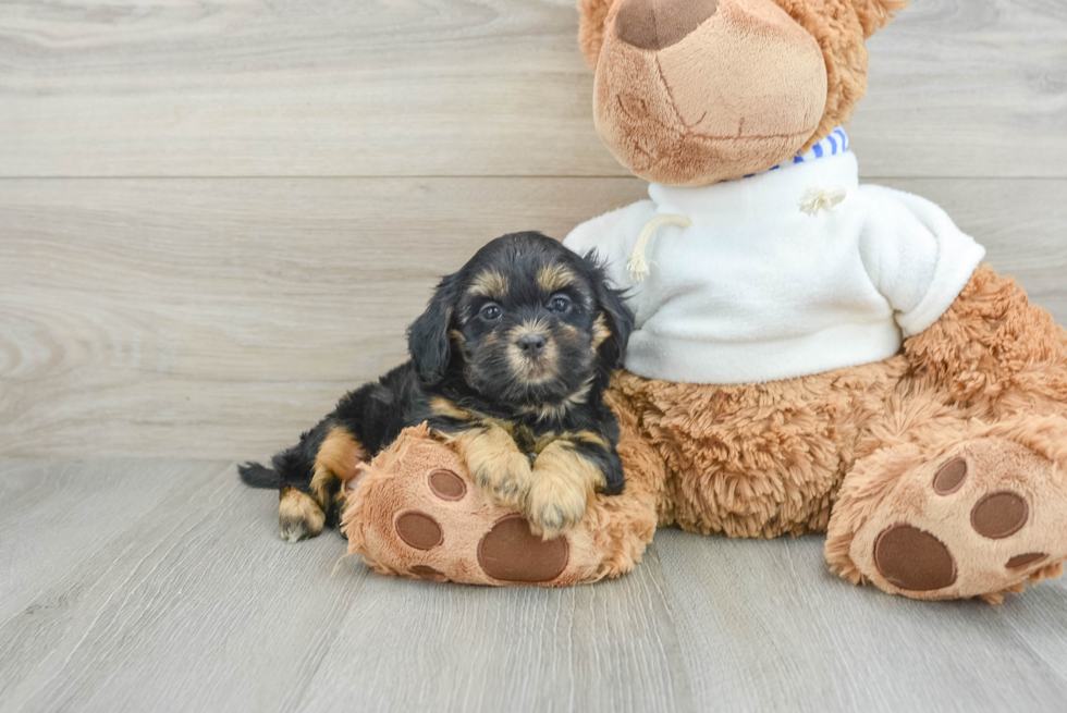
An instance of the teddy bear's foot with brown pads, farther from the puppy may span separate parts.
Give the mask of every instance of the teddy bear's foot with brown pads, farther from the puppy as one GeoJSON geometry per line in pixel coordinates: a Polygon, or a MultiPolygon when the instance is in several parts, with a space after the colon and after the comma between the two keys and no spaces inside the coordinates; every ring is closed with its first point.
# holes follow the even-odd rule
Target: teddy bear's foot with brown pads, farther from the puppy
{"type": "Polygon", "coordinates": [[[1067,557],[1062,464],[1004,438],[874,454],[846,478],[826,556],[843,577],[915,599],[999,602],[1067,557]]]}

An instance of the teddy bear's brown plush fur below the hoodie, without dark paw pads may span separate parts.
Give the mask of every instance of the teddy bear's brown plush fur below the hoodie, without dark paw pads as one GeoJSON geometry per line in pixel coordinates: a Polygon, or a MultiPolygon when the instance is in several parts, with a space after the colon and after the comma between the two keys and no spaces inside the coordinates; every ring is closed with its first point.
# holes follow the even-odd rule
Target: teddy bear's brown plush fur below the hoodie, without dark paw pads
{"type": "MultiPolygon", "coordinates": [[[[935,327],[891,359],[766,384],[695,385],[616,372],[605,401],[622,427],[625,496],[591,501],[567,534],[580,554],[565,573],[524,583],[624,574],[640,561],[653,524],[729,537],[827,532],[834,571],[916,599],[995,603],[1026,582],[1059,576],[1067,557],[1067,334],[1014,280],[986,266],[935,327]],[[958,457],[970,467],[965,487],[939,495],[935,474],[958,457]],[[977,534],[974,505],[1002,491],[1026,499],[1027,527],[1002,540],[977,534]],[[915,591],[881,576],[872,543],[900,523],[947,544],[956,574],[949,587],[915,591]]],[[[421,566],[429,565],[442,580],[516,583],[487,575],[473,554],[506,508],[486,511],[477,493],[459,507],[428,494],[427,474],[442,464],[469,476],[430,433],[410,439],[408,447],[425,457],[390,452],[371,466],[380,484],[349,492],[349,551],[389,574],[425,577],[421,566]],[[469,550],[424,552],[397,542],[396,514],[413,508],[469,550]]]]}

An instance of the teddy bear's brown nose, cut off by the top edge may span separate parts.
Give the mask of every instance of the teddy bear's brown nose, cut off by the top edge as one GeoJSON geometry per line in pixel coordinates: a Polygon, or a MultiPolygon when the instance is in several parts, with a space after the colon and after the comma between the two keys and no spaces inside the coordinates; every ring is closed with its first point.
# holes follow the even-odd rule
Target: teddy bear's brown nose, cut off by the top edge
{"type": "Polygon", "coordinates": [[[623,0],[615,34],[634,47],[663,49],[680,42],[718,9],[719,0],[623,0]]]}

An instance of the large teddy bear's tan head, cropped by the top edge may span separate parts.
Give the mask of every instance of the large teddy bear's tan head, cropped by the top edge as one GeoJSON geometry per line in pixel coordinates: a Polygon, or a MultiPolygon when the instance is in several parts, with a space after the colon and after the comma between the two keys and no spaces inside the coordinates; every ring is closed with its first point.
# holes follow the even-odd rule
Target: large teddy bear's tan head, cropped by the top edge
{"type": "Polygon", "coordinates": [[[636,175],[703,186],[847,121],[864,40],[909,0],[579,0],[597,131],[636,175]]]}

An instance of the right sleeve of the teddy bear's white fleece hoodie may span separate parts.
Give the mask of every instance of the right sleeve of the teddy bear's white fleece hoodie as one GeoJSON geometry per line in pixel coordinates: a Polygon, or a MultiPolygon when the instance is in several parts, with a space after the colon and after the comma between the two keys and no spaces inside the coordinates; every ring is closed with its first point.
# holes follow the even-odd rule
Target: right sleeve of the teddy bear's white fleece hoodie
{"type": "Polygon", "coordinates": [[[904,335],[918,334],[952,306],[985,248],[924,198],[872,185],[861,186],[860,197],[867,208],[863,267],[904,335]]]}

